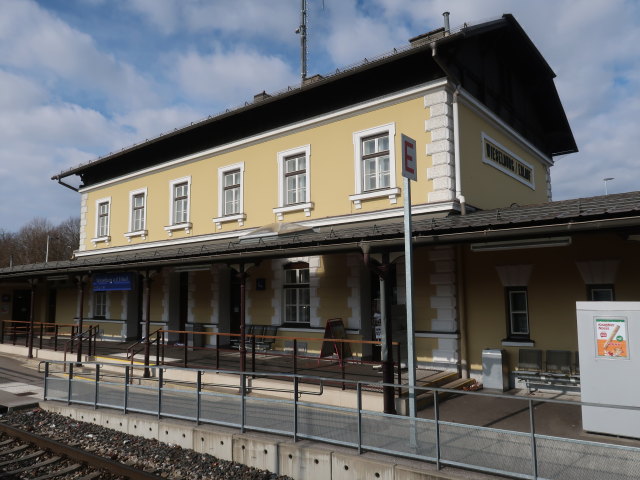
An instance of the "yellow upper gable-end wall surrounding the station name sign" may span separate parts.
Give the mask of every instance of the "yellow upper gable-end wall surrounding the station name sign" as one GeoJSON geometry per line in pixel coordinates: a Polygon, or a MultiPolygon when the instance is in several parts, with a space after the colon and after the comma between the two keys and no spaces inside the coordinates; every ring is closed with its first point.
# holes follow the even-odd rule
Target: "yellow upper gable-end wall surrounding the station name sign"
{"type": "Polygon", "coordinates": [[[548,201],[547,173],[545,165],[520,142],[498,129],[492,123],[459,104],[461,190],[469,205],[482,209],[509,206],[512,203],[527,205],[548,201]],[[534,168],[535,190],[497,168],[483,163],[482,133],[516,154],[534,168]]]}

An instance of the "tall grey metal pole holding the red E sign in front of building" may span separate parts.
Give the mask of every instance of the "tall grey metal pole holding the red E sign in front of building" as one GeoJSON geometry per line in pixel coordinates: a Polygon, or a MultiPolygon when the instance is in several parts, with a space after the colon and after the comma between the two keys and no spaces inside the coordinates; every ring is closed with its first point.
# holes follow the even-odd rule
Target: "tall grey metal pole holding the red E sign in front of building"
{"type": "MultiPolygon", "coordinates": [[[[413,325],[413,242],[411,241],[411,181],[404,182],[404,258],[407,301],[407,369],[409,373],[409,416],[415,417],[416,411],[416,352],[414,348],[413,325]]],[[[398,359],[400,361],[400,359],[398,359]]]]}

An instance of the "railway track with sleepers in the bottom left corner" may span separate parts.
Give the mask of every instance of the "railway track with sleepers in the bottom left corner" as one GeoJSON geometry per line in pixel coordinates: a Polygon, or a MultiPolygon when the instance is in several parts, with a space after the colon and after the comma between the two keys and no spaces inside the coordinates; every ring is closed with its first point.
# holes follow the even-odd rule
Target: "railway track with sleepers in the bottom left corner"
{"type": "Polygon", "coordinates": [[[40,435],[0,422],[0,479],[160,480],[40,435]]]}

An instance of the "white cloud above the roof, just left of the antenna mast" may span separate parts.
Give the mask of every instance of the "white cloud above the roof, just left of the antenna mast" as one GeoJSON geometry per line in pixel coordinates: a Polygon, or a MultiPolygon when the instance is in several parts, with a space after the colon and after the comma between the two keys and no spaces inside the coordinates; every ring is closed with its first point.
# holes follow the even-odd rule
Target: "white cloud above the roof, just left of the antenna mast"
{"type": "Polygon", "coordinates": [[[263,90],[280,90],[298,79],[283,59],[241,48],[212,55],[190,52],[179,56],[175,76],[185,95],[226,106],[252,100],[263,90]]]}

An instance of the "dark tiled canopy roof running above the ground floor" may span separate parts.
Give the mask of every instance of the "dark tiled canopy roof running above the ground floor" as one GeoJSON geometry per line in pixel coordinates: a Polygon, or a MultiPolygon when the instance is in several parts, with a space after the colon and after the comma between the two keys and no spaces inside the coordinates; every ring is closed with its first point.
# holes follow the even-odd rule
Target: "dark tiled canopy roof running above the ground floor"
{"type": "MultiPolygon", "coordinates": [[[[467,215],[422,216],[413,221],[417,244],[474,242],[504,238],[528,238],[549,234],[640,228],[640,192],[579,198],[538,205],[513,205],[467,215]]],[[[355,251],[360,242],[372,248],[402,248],[402,218],[350,223],[286,235],[246,235],[181,246],[90,255],[76,260],[18,265],[0,269],[0,279],[52,275],[74,271],[144,268],[213,261],[249,261],[259,257],[355,251]]]]}

